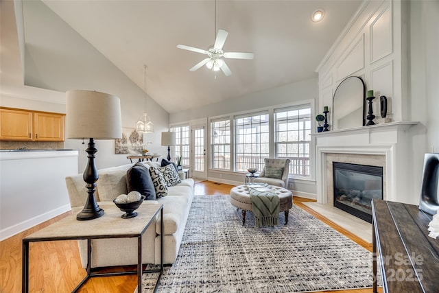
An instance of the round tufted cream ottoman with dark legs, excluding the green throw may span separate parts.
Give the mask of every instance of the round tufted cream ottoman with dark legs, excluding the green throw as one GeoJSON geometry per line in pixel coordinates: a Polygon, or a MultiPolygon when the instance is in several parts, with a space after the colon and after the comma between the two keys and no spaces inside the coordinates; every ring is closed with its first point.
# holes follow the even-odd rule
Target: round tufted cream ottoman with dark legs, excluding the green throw
{"type": "MultiPolygon", "coordinates": [[[[270,187],[276,192],[279,200],[281,201],[281,206],[279,211],[285,212],[285,225],[288,224],[288,211],[293,206],[293,196],[291,191],[283,187],[273,186],[270,187]]],[[[238,185],[230,189],[230,202],[242,210],[242,224],[246,222],[246,211],[252,211],[252,200],[250,199],[250,194],[246,185],[238,185]]]]}

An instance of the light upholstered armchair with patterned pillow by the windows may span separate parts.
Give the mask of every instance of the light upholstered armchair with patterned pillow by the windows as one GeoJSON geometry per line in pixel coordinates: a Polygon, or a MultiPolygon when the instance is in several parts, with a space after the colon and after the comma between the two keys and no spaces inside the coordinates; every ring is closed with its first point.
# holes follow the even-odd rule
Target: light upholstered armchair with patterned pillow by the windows
{"type": "Polygon", "coordinates": [[[253,182],[267,183],[288,189],[289,159],[264,159],[265,166],[253,182]]]}

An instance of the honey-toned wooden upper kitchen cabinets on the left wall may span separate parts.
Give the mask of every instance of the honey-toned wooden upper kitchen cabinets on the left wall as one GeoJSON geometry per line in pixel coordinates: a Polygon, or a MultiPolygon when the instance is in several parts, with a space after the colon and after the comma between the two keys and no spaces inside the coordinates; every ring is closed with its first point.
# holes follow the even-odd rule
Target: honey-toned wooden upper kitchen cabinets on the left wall
{"type": "Polygon", "coordinates": [[[64,141],[64,114],[0,108],[0,140],[64,141]]]}

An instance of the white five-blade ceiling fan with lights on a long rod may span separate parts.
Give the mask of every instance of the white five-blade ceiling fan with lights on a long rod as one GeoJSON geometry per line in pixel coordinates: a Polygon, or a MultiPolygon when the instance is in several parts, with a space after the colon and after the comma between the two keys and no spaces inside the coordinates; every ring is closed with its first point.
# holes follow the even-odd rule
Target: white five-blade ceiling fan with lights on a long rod
{"type": "Polygon", "coordinates": [[[228,76],[232,74],[232,71],[230,71],[230,68],[228,68],[226,62],[224,62],[224,60],[222,59],[223,57],[233,59],[253,59],[254,54],[242,52],[224,52],[222,47],[224,46],[224,43],[226,43],[227,35],[228,32],[226,32],[225,30],[218,30],[217,37],[215,38],[215,44],[213,45],[213,47],[210,47],[207,50],[198,49],[187,45],[177,45],[177,48],[207,55],[207,58],[189,69],[190,71],[198,70],[203,65],[206,65],[206,67],[211,69],[212,71],[219,71],[219,69],[221,69],[222,72],[224,72],[224,74],[228,76]]]}

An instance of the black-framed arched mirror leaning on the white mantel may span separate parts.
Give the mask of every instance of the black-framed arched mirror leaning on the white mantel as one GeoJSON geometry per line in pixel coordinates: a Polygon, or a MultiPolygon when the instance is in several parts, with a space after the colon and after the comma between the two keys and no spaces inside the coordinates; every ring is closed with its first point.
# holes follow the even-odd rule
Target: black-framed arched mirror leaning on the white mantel
{"type": "Polygon", "coordinates": [[[358,76],[349,76],[340,82],[332,100],[333,130],[364,126],[364,91],[364,82],[358,76]]]}

